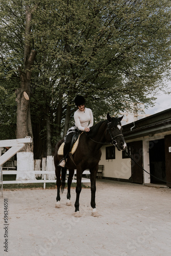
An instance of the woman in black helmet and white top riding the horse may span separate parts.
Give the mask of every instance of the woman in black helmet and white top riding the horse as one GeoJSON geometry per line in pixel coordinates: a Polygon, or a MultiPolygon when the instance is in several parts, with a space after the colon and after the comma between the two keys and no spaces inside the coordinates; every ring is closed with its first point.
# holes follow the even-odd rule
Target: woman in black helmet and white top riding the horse
{"type": "Polygon", "coordinates": [[[63,158],[58,164],[61,167],[65,167],[67,162],[67,156],[70,151],[71,140],[74,133],[79,131],[89,132],[90,127],[93,126],[93,113],[91,109],[85,108],[86,100],[84,97],[77,95],[74,101],[75,105],[78,107],[78,110],[74,113],[75,125],[68,130],[67,135],[65,136],[63,158]]]}

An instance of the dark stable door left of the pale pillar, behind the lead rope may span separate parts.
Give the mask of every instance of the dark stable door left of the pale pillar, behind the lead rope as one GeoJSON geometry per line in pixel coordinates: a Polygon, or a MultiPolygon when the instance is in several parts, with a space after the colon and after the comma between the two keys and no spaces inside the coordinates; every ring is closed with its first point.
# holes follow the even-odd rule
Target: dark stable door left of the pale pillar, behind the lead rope
{"type": "Polygon", "coordinates": [[[143,170],[142,170],[142,141],[133,141],[129,143],[131,150],[131,170],[132,170],[132,182],[143,184],[143,170]],[[140,165],[140,166],[138,166],[140,165]]]}

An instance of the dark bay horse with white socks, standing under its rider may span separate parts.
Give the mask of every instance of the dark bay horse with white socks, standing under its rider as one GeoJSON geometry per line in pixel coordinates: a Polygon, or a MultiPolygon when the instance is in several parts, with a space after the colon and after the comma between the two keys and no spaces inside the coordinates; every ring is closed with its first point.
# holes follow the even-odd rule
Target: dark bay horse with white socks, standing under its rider
{"type": "Polygon", "coordinates": [[[61,189],[65,186],[66,180],[66,171],[69,169],[69,177],[68,177],[68,193],[67,205],[71,205],[70,203],[70,188],[72,183],[72,178],[74,175],[74,169],[77,170],[77,185],[76,185],[76,201],[75,201],[75,213],[74,217],[80,217],[79,212],[79,195],[81,192],[81,178],[82,173],[86,169],[90,169],[90,180],[91,180],[91,206],[93,208],[92,215],[94,217],[99,216],[96,211],[95,204],[95,193],[96,193],[96,175],[98,171],[98,163],[101,157],[101,146],[104,144],[114,144],[117,149],[125,150],[126,143],[124,141],[122,135],[122,127],[121,120],[123,117],[115,118],[111,117],[108,113],[107,120],[100,121],[94,126],[90,128],[90,132],[84,132],[81,134],[79,138],[79,144],[77,150],[73,154],[73,159],[68,157],[68,161],[65,168],[61,168],[58,166],[59,161],[62,156],[57,154],[60,145],[63,142],[63,139],[58,141],[55,146],[55,154],[54,154],[54,163],[55,163],[55,173],[56,173],[56,185],[57,185],[57,197],[56,197],[56,208],[60,208],[60,186],[61,189]],[[61,172],[62,169],[62,172],[61,172]],[[61,180],[60,180],[61,173],[61,180]]]}

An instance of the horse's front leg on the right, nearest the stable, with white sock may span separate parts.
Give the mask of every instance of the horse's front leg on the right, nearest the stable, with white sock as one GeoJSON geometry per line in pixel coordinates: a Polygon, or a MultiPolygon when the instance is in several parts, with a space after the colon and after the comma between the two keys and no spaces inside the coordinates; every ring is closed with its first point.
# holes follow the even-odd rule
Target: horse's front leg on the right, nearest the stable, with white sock
{"type": "Polygon", "coordinates": [[[93,208],[92,210],[92,216],[98,217],[99,214],[96,210],[96,203],[95,203],[95,195],[96,195],[96,175],[97,175],[98,166],[95,168],[90,169],[90,181],[91,181],[91,206],[93,208]]]}

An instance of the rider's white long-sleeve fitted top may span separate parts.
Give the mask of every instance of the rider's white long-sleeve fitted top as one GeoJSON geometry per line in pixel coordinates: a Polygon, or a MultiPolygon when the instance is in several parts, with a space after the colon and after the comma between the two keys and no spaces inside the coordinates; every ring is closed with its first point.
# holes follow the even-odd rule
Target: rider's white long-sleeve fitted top
{"type": "Polygon", "coordinates": [[[84,131],[85,127],[90,128],[93,126],[93,113],[91,109],[84,109],[80,111],[79,109],[74,113],[75,125],[80,131],[84,131]]]}

